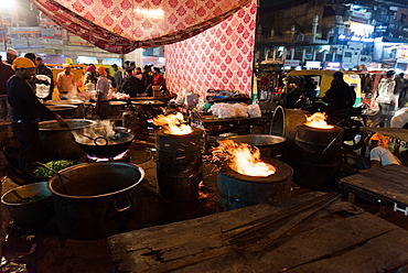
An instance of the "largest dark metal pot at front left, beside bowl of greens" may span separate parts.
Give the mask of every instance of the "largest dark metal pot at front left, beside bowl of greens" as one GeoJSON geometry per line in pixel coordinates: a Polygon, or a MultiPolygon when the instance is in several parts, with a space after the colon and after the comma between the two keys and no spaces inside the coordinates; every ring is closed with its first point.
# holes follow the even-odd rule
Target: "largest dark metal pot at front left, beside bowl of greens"
{"type": "Polygon", "coordinates": [[[49,181],[61,233],[72,239],[99,239],[138,228],[144,171],[130,163],[79,164],[49,181]]]}

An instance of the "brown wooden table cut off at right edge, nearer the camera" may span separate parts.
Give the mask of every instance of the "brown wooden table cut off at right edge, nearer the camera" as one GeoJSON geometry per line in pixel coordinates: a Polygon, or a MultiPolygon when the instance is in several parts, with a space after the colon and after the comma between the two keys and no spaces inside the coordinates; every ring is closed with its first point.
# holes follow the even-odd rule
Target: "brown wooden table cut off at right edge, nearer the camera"
{"type": "Polygon", "coordinates": [[[408,216],[408,167],[386,165],[343,177],[339,187],[355,196],[408,216]]]}

